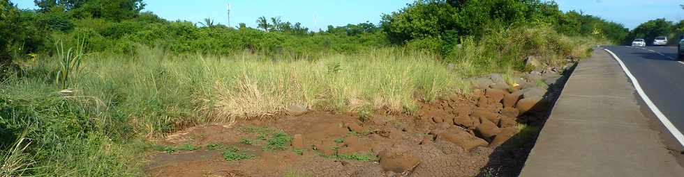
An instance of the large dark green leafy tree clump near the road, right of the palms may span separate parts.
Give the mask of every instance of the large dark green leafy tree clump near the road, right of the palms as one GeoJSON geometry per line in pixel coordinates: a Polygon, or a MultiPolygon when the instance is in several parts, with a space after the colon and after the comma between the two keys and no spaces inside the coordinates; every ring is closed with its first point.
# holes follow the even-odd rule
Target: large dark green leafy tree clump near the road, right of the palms
{"type": "Polygon", "coordinates": [[[600,35],[597,37],[614,42],[627,34],[627,28],[614,22],[575,11],[563,13],[553,1],[421,0],[382,17],[382,30],[393,43],[441,53],[449,53],[459,38],[482,37],[498,28],[539,25],[553,26],[566,35],[600,35]],[[414,40],[417,42],[411,42],[414,40]],[[448,47],[440,49],[445,45],[448,47]]]}

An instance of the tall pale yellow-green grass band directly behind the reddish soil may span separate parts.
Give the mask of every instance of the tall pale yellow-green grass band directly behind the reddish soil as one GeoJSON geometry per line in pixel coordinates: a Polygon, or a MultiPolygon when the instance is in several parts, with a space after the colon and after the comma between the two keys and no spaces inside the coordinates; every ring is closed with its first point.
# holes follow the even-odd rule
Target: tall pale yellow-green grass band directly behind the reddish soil
{"type": "Polygon", "coordinates": [[[149,135],[174,126],[274,117],[293,104],[339,112],[410,112],[418,99],[469,87],[436,56],[396,48],[315,60],[140,50],[133,58],[91,55],[77,90],[133,112],[142,123],[136,126],[149,135]]]}

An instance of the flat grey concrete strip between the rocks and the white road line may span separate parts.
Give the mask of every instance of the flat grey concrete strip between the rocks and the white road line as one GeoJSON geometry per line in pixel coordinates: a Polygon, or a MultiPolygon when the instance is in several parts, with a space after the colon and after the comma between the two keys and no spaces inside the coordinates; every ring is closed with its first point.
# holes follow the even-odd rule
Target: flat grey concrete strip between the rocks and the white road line
{"type": "Polygon", "coordinates": [[[595,49],[565,84],[520,176],[684,176],[635,92],[595,49]]]}

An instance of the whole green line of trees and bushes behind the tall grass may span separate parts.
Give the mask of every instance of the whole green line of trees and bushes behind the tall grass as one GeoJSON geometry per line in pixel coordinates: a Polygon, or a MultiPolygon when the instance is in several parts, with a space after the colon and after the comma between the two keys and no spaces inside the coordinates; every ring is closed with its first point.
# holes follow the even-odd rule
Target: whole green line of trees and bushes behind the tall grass
{"type": "Polygon", "coordinates": [[[281,17],[258,17],[257,28],[203,22],[170,22],[144,12],[142,0],[36,0],[38,9],[20,10],[0,0],[0,58],[50,53],[54,41],[87,38],[89,51],[135,53],[136,45],[173,52],[230,54],[244,50],[290,56],[355,52],[369,47],[415,44],[449,53],[468,37],[521,26],[550,26],[563,35],[592,35],[623,42],[623,25],[562,12],[540,0],[418,0],[382,15],[380,24],[365,22],[311,31],[281,17]]]}

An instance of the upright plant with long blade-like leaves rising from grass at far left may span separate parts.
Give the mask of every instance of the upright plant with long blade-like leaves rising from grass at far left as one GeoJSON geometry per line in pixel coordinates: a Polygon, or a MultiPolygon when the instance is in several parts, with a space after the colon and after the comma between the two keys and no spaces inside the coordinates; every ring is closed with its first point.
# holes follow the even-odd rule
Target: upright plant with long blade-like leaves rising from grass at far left
{"type": "Polygon", "coordinates": [[[76,40],[76,47],[69,47],[66,50],[64,49],[64,42],[61,42],[61,40],[55,44],[57,57],[59,58],[59,70],[57,71],[56,80],[62,90],[67,89],[73,77],[72,75],[77,76],[80,71],[81,60],[84,57],[84,44],[85,40],[76,40]]]}

